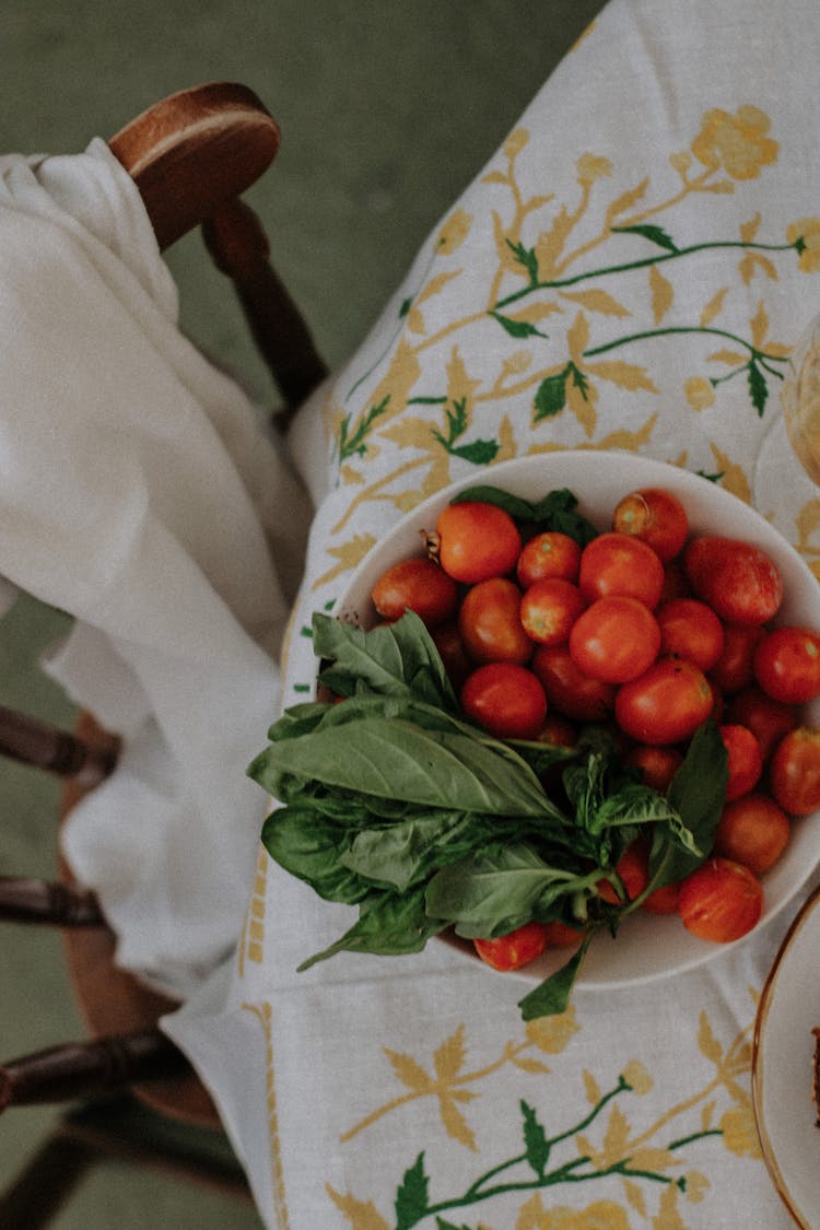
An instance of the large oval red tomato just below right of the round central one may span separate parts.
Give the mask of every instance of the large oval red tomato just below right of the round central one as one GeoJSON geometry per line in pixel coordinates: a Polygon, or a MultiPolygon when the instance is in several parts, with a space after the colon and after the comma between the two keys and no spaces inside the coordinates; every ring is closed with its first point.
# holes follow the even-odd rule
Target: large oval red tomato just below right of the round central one
{"type": "Polygon", "coordinates": [[[658,658],[618,688],[615,720],[638,743],[682,743],[707,720],[713,705],[709,683],[693,663],[658,658]]]}

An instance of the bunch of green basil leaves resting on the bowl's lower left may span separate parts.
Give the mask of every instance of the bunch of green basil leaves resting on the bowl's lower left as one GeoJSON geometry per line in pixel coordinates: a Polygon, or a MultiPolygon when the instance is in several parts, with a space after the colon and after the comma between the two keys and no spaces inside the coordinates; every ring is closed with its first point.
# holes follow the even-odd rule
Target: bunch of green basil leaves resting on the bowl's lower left
{"type": "Polygon", "coordinates": [[[313,643],[320,680],[343,702],[286,710],[248,769],[280,804],[262,833],[270,856],[325,900],[358,907],[301,969],[342,951],[418,952],[447,929],[492,938],[561,920],[584,927],[584,941],[519,1005],[525,1020],[561,1012],[593,935],[636,908],[615,870],[626,847],[650,840],[647,893],[709,852],[727,780],[713,722],[660,795],[604,728],[568,749],[495,739],[467,721],[409,611],[369,632],[316,614],[313,643]],[[601,881],[618,904],[601,898],[601,881]]]}

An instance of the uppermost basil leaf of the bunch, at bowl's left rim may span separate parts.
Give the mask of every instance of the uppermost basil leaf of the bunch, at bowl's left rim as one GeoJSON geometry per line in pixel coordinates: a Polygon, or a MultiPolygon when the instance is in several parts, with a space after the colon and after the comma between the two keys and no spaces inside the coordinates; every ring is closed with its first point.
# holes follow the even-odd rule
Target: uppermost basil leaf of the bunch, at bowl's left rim
{"type": "Polygon", "coordinates": [[[451,712],[459,708],[441,656],[413,611],[369,632],[317,611],[313,648],[329,663],[318,678],[337,695],[353,696],[363,688],[382,695],[409,692],[451,712]]]}

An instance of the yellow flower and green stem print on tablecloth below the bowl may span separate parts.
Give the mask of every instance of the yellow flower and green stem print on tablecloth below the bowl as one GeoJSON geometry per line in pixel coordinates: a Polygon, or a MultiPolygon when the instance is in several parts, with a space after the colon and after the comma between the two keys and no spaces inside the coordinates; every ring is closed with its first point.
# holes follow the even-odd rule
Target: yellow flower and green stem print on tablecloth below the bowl
{"type": "Polygon", "coordinates": [[[508,1065],[529,1074],[534,1089],[531,1100],[520,1098],[520,1133],[508,1141],[510,1156],[484,1159],[482,1154],[461,1191],[435,1198],[430,1194],[438,1177],[433,1140],[401,1176],[395,1219],[382,1214],[376,1199],[339,1192],[328,1183],[328,1194],[352,1230],[493,1230],[495,1225],[502,1230],[510,1223],[493,1220],[499,1203],[507,1218],[510,1207],[515,1208],[515,1230],[629,1230],[634,1214],[653,1230],[686,1230],[686,1204],[700,1204],[709,1189],[708,1160],[716,1143],[738,1157],[760,1159],[747,1090],[751,1026],[724,1044],[701,1011],[697,1047],[712,1066],[711,1077],[660,1112],[655,1100],[648,1116],[632,1102],[655,1091],[642,1060],[631,1059],[615,1076],[607,1074],[609,1084],[604,1084],[602,1073],[570,1068],[566,1079],[579,1085],[578,1111],[574,1122],[557,1123],[545,1080],[551,1068],[541,1057],[561,1054],[579,1028],[572,1007],[561,1017],[529,1022],[524,1038],[510,1039],[494,1061],[473,1070],[466,1066],[463,1025],[434,1052],[429,1066],[385,1048],[403,1092],[344,1133],[343,1143],[373,1130],[386,1116],[406,1113],[418,1100],[433,1098],[445,1135],[482,1154],[462,1107],[484,1092],[505,1096],[507,1085],[502,1084],[499,1092],[497,1082],[508,1065]],[[566,1199],[581,1187],[590,1192],[589,1204],[570,1208],[561,1203],[562,1194],[566,1199]],[[479,1219],[467,1223],[465,1216],[479,1219]]]}

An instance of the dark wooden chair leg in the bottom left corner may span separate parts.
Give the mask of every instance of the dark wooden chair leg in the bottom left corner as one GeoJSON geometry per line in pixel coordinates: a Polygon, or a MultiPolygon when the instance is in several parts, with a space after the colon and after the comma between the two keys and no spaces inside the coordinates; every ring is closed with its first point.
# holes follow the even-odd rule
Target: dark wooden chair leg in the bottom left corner
{"type": "Polygon", "coordinates": [[[47,1226],[93,1160],[93,1148],[58,1128],[0,1196],[0,1226],[47,1226]]]}

